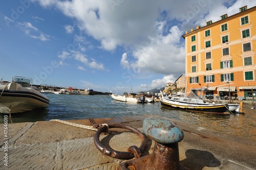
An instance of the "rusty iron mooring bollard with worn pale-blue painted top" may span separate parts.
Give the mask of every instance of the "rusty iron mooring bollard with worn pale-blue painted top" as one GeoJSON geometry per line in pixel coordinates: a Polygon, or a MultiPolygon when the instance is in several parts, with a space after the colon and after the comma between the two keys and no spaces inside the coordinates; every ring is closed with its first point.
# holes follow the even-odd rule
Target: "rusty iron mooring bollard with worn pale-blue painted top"
{"type": "Polygon", "coordinates": [[[179,170],[178,142],[184,137],[182,130],[170,120],[153,117],[144,120],[143,130],[148,138],[155,141],[153,153],[121,163],[118,169],[179,170]]]}

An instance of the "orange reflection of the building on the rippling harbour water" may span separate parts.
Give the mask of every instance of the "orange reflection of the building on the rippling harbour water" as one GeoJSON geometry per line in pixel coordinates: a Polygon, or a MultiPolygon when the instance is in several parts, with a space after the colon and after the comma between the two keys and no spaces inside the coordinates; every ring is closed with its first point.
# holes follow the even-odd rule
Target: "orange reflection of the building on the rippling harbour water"
{"type": "Polygon", "coordinates": [[[188,122],[198,127],[256,140],[256,114],[218,115],[171,110],[168,108],[161,108],[161,110],[169,110],[170,114],[165,115],[168,118],[173,118],[172,114],[175,112],[175,114],[179,115],[175,119],[181,122],[188,122]]]}

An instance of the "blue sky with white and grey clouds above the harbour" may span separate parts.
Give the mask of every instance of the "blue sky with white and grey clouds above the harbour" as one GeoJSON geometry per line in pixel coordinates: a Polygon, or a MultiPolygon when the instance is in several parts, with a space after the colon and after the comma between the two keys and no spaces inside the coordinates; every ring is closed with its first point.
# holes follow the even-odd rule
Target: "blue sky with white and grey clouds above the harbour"
{"type": "Polygon", "coordinates": [[[185,73],[185,31],[255,0],[0,1],[0,79],[122,94],[185,73]]]}

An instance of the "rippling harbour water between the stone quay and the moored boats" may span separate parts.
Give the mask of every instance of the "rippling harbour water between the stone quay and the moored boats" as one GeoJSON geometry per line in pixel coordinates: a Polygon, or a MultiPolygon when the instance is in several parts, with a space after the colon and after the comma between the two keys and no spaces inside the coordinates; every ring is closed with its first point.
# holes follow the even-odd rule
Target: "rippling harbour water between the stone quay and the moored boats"
{"type": "MultiPolygon", "coordinates": [[[[87,119],[123,117],[131,115],[157,115],[181,122],[194,124],[200,128],[229,133],[256,140],[256,113],[214,115],[200,112],[186,112],[161,107],[160,102],[136,104],[115,101],[110,95],[68,95],[46,94],[50,99],[48,107],[13,114],[14,123],[49,121],[51,119],[87,119]]],[[[4,123],[4,115],[0,117],[4,123]]]]}

